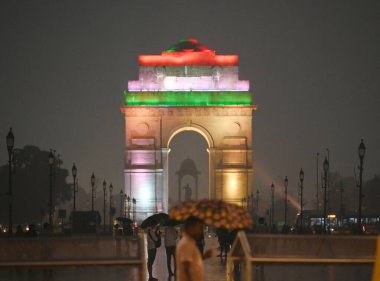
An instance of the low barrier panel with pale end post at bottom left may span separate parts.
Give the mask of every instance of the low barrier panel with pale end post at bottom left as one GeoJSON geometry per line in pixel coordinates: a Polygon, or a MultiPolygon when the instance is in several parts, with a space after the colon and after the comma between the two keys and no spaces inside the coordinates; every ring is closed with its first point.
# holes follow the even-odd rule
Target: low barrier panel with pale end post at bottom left
{"type": "Polygon", "coordinates": [[[136,237],[0,239],[0,280],[5,280],[4,275],[21,268],[28,270],[43,268],[62,272],[63,268],[69,267],[71,271],[89,271],[94,267],[103,268],[104,271],[109,271],[113,267],[128,271],[130,268],[136,273],[135,280],[144,280],[145,243],[143,234],[136,237]]]}

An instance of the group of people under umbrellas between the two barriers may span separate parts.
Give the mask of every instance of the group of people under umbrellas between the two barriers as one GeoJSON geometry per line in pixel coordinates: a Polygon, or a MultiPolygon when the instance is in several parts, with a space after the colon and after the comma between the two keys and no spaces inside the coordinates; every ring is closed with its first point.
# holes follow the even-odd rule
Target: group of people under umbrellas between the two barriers
{"type": "MultiPolygon", "coordinates": [[[[237,230],[229,231],[225,228],[219,228],[216,229],[215,234],[220,249],[218,257],[226,257],[236,237],[237,230]]],[[[190,217],[183,226],[166,226],[162,232],[157,222],[153,222],[146,229],[146,235],[149,281],[157,280],[153,276],[153,264],[157,249],[161,247],[162,237],[169,277],[176,276],[178,281],[204,280],[203,260],[211,257],[212,251],[205,251],[205,231],[202,220],[190,217]]]]}

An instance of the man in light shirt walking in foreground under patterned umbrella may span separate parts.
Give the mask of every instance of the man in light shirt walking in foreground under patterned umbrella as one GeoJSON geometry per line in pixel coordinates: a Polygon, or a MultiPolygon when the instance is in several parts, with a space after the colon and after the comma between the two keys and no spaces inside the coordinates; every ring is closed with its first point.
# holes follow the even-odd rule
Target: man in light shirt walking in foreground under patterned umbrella
{"type": "Polygon", "coordinates": [[[185,233],[176,249],[176,281],[204,281],[203,260],[211,257],[208,250],[201,255],[196,240],[203,232],[203,222],[196,217],[189,217],[185,222],[185,233]]]}

